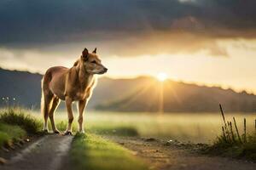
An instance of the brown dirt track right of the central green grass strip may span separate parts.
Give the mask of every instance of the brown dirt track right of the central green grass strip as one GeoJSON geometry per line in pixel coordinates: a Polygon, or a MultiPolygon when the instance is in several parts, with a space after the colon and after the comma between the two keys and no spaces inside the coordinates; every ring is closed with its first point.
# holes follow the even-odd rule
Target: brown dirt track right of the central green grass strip
{"type": "Polygon", "coordinates": [[[206,156],[186,149],[183,144],[166,143],[156,139],[105,137],[160,170],[255,170],[256,164],[224,157],[206,156]]]}

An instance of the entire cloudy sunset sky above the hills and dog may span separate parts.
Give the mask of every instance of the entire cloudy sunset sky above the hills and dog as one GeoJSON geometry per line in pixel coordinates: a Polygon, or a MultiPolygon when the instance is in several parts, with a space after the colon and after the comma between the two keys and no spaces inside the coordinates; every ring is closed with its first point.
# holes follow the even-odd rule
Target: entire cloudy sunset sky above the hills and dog
{"type": "Polygon", "coordinates": [[[1,0],[0,66],[44,74],[97,48],[108,77],[256,94],[255,0],[1,0]]]}

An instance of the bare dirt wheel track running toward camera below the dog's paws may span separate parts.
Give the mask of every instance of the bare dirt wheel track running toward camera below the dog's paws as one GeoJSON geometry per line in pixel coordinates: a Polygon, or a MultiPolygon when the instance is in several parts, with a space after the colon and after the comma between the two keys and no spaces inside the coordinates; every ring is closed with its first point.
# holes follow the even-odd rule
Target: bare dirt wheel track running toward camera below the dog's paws
{"type": "Polygon", "coordinates": [[[20,150],[1,170],[58,170],[65,160],[72,136],[49,134],[20,150]]]}

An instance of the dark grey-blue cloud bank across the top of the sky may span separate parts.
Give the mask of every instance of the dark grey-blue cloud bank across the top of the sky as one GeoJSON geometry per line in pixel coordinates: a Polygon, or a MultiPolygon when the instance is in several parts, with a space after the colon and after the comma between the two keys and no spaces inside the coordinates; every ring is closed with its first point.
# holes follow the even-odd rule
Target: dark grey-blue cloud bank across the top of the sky
{"type": "MultiPolygon", "coordinates": [[[[178,31],[204,37],[207,42],[215,38],[255,38],[255,6],[255,0],[1,0],[0,46],[116,44],[124,39],[137,44],[145,37],[157,39],[157,32],[178,31]]],[[[163,42],[175,44],[173,39],[163,38],[163,42]]],[[[217,54],[224,54],[223,49],[213,48],[217,54]]]]}

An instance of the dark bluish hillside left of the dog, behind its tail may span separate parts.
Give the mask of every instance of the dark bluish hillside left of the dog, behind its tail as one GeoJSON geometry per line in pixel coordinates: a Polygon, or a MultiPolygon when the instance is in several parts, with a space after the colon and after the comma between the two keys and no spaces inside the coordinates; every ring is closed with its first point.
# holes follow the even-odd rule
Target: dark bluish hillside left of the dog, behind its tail
{"type": "Polygon", "coordinates": [[[0,68],[0,105],[22,105],[38,108],[42,75],[0,68]],[[15,100],[14,100],[15,99],[15,100]]]}

